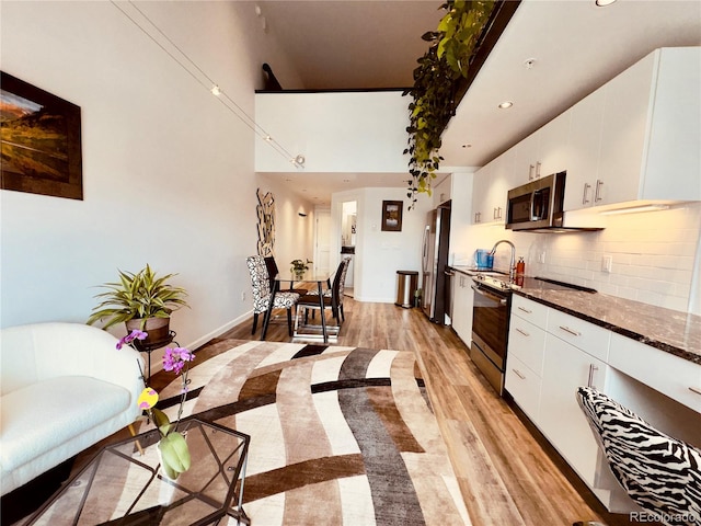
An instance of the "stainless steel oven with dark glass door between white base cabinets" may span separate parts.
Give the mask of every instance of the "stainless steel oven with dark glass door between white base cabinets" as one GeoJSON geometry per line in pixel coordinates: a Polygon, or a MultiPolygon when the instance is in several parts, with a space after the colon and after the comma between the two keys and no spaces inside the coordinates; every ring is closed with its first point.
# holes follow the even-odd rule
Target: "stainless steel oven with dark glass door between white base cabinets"
{"type": "Polygon", "coordinates": [[[501,396],[504,390],[512,290],[507,283],[485,276],[476,276],[472,289],[474,307],[470,358],[501,396]]]}

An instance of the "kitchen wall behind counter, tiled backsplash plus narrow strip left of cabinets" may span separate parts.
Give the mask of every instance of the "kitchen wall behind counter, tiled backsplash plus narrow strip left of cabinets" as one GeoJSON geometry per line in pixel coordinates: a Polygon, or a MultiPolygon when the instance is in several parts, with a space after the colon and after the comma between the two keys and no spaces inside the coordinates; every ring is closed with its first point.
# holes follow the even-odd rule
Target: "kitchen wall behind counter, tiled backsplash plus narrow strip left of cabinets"
{"type": "MultiPolygon", "coordinates": [[[[450,251],[456,264],[471,264],[476,249],[491,249],[499,239],[516,245],[526,274],[584,285],[611,296],[701,315],[701,203],[668,210],[605,216],[606,229],[577,233],[513,232],[503,226],[471,221],[471,175],[453,174],[450,251]],[[456,220],[456,210],[462,219],[456,220]],[[539,263],[539,254],[545,254],[539,263]],[[610,273],[601,258],[610,255],[610,273]],[[696,275],[696,277],[694,277],[696,275]]],[[[508,267],[507,245],[497,250],[495,266],[508,267]]]]}

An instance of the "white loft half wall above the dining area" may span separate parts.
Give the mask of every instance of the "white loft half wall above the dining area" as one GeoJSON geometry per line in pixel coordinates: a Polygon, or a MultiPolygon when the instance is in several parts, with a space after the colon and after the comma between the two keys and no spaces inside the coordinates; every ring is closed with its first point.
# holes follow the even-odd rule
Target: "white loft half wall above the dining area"
{"type": "MultiPolygon", "coordinates": [[[[306,158],[304,172],[406,173],[410,99],[401,91],[258,93],[255,122],[290,157],[306,158]]],[[[262,138],[258,172],[287,172],[288,158],[262,138]]]]}

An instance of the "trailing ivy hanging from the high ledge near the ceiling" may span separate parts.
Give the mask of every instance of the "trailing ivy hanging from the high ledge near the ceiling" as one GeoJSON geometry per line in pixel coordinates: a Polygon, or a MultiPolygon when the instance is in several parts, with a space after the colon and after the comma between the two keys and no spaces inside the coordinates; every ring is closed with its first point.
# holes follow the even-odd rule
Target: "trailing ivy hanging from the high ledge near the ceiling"
{"type": "Polygon", "coordinates": [[[470,60],[486,26],[494,0],[448,0],[440,9],[447,12],[436,31],[425,33],[422,38],[430,43],[426,54],[414,69],[414,85],[404,92],[411,94],[409,104],[410,125],[407,197],[411,207],[416,203],[416,193],[430,195],[430,181],[436,178],[443,158],[440,135],[455,114],[455,98],[458,80],[468,77],[470,60]]]}

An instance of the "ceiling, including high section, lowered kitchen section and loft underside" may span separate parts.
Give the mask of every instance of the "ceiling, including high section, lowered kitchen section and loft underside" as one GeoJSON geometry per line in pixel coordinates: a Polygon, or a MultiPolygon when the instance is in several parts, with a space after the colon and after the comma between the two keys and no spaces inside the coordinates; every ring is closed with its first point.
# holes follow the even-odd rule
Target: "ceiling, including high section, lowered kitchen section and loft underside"
{"type": "MultiPolygon", "coordinates": [[[[441,3],[258,2],[306,89],[411,85],[427,48],[421,35],[437,26],[441,3]]],[[[606,8],[594,0],[524,0],[444,133],[443,168],[485,164],[655,48],[699,45],[700,0],[618,0],[606,8]],[[514,106],[498,110],[507,100],[514,106]]],[[[407,179],[324,174],[321,181],[298,171],[294,188],[327,204],[332,192],[405,186],[407,179]]]]}

